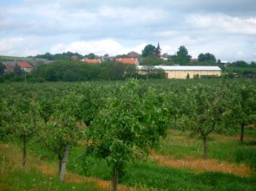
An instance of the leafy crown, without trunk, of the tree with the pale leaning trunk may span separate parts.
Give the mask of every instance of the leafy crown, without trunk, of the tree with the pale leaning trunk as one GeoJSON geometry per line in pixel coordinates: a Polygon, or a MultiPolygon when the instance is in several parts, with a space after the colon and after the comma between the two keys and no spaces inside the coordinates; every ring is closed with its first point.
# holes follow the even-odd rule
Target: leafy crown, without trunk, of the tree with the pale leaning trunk
{"type": "MultiPolygon", "coordinates": [[[[53,121],[48,121],[45,128],[41,128],[39,136],[42,141],[42,146],[47,147],[53,153],[59,156],[64,155],[64,148],[67,144],[76,145],[81,139],[83,129],[78,128],[79,99],[75,93],[69,93],[56,103],[56,109],[53,112],[53,121]]],[[[43,102],[44,103],[44,102],[43,102]]],[[[53,104],[53,103],[51,103],[53,104]]],[[[50,105],[50,109],[52,105],[50,105]]],[[[49,104],[47,106],[49,108],[49,104]]],[[[45,110],[41,110],[45,111],[45,110]]],[[[49,111],[51,113],[51,111],[49,111]]],[[[50,114],[45,115],[49,120],[50,114]]]]}

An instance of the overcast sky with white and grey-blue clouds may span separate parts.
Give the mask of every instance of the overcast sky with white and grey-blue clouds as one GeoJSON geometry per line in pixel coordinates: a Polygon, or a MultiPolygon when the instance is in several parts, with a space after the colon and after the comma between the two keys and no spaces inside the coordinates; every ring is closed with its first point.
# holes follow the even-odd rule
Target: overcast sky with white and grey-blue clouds
{"type": "Polygon", "coordinates": [[[141,52],[256,61],[255,0],[0,0],[0,55],[141,52]]]}

